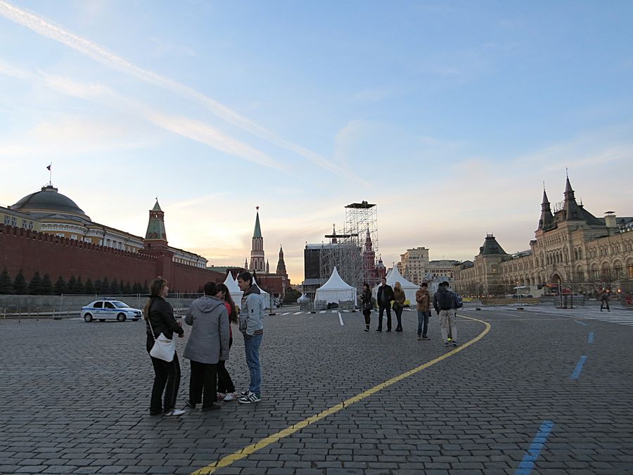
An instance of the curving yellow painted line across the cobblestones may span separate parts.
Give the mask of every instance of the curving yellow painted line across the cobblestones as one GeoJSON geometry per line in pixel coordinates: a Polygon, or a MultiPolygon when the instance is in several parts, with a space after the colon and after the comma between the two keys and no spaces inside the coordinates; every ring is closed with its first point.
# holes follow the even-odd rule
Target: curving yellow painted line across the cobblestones
{"type": "Polygon", "coordinates": [[[381,384],[373,386],[373,388],[369,388],[367,391],[363,391],[362,393],[357,394],[353,396],[352,398],[344,400],[343,403],[339,403],[335,406],[328,407],[328,409],[319,412],[319,414],[314,414],[314,416],[308,417],[307,419],[303,419],[301,422],[298,422],[297,424],[293,424],[292,426],[286,427],[286,429],[283,429],[283,431],[279,431],[277,433],[272,434],[271,436],[264,437],[262,438],[261,441],[248,445],[243,449],[233,452],[232,454],[226,455],[225,457],[222,457],[222,459],[218,460],[217,462],[213,462],[212,464],[209,464],[206,467],[203,467],[201,469],[194,471],[193,474],[191,475],[212,474],[217,469],[228,467],[233,462],[236,462],[245,457],[248,457],[248,455],[254,452],[257,452],[257,450],[260,450],[264,447],[267,447],[271,443],[275,443],[282,438],[292,436],[293,433],[300,431],[301,429],[309,426],[310,424],[314,424],[314,422],[319,422],[321,419],[325,419],[326,417],[331,416],[332,414],[335,414],[336,412],[342,409],[345,409],[345,407],[348,407],[354,403],[358,403],[359,401],[365,398],[369,398],[369,396],[375,393],[378,393],[378,391],[382,391],[383,389],[388,388],[389,386],[392,386],[392,384],[396,384],[398,381],[402,381],[402,379],[408,378],[409,376],[412,376],[418,372],[421,372],[423,369],[433,366],[442,360],[446,360],[448,357],[451,357],[455,355],[456,353],[459,353],[461,350],[468,348],[468,346],[471,346],[473,343],[477,343],[478,341],[480,341],[481,338],[483,338],[488,333],[488,331],[490,331],[490,323],[488,322],[484,322],[483,320],[479,320],[476,318],[464,317],[463,315],[459,315],[459,316],[462,318],[469,319],[469,320],[474,320],[475,322],[480,322],[482,324],[485,324],[486,327],[480,334],[478,334],[478,336],[475,336],[475,338],[473,338],[472,340],[467,341],[466,343],[463,343],[463,345],[458,346],[457,348],[454,348],[454,350],[451,350],[448,353],[445,353],[444,355],[435,358],[435,360],[430,360],[429,362],[426,362],[423,365],[420,365],[414,369],[409,369],[409,371],[407,372],[399,374],[398,376],[395,376],[394,378],[389,379],[388,381],[385,381],[381,384]]]}

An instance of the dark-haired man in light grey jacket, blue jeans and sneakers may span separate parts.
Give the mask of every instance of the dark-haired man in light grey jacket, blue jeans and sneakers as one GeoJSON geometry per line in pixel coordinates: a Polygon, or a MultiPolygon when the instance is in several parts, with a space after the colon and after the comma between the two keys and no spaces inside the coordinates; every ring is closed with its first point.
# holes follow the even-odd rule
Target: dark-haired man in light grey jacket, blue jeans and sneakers
{"type": "Polygon", "coordinates": [[[264,301],[260,288],[253,284],[252,274],[238,275],[238,286],[244,292],[240,308],[240,331],[244,335],[244,353],[250,372],[248,391],[241,393],[242,404],[259,403],[262,400],[262,369],[260,368],[260,346],[264,337],[264,301]]]}

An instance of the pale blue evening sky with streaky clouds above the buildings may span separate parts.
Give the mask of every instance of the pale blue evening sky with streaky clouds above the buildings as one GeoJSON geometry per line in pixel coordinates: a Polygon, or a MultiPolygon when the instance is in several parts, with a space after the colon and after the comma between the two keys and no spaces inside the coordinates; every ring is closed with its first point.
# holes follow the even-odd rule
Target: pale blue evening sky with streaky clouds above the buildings
{"type": "Polygon", "coordinates": [[[0,0],[0,205],[49,182],[101,224],[271,270],[378,213],[407,248],[529,248],[543,186],[633,215],[633,2],[0,0]]]}

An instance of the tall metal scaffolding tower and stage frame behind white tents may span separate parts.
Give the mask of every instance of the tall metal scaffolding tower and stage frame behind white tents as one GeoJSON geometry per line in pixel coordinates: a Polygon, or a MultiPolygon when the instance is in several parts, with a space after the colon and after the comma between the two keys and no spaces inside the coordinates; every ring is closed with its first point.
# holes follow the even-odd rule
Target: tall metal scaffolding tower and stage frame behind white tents
{"type": "Polygon", "coordinates": [[[361,291],[363,282],[370,288],[376,280],[376,260],[378,255],[378,217],[376,205],[362,201],[345,206],[345,226],[343,232],[327,234],[330,243],[321,247],[319,255],[321,278],[328,279],[334,267],[341,279],[361,291]],[[365,251],[367,233],[372,243],[373,258],[365,251]]]}

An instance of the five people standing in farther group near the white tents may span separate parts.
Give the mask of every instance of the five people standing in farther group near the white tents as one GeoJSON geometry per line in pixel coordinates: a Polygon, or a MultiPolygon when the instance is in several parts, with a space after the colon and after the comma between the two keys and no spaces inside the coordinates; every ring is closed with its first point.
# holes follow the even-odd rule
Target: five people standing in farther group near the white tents
{"type": "MultiPolygon", "coordinates": [[[[399,282],[396,282],[393,289],[387,284],[387,279],[381,279],[381,285],[378,286],[378,294],[376,303],[378,304],[378,327],[376,331],[383,331],[383,315],[387,315],[387,331],[391,331],[391,309],[394,310],[397,326],[395,331],[402,331],[402,310],[404,310],[404,302],[406,296],[399,282]]],[[[433,299],[428,293],[428,284],[423,282],[420,289],[416,291],[416,309],[418,310],[418,340],[430,340],[428,338],[428,319],[430,317],[430,305],[433,302],[433,308],[437,315],[440,316],[440,329],[442,331],[442,339],[444,346],[457,346],[457,324],[456,309],[459,303],[456,293],[449,290],[449,283],[442,282],[438,286],[437,292],[433,294],[433,299]]],[[[363,315],[365,318],[365,329],[369,331],[371,324],[371,310],[373,310],[373,300],[369,284],[363,284],[361,293],[361,304],[363,315]]]]}

